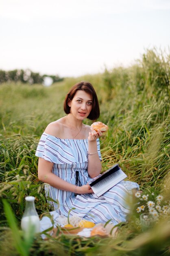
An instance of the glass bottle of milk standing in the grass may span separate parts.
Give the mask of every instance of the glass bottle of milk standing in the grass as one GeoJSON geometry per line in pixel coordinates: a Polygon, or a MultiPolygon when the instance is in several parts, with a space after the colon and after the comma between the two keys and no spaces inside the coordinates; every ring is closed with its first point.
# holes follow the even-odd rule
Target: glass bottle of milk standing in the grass
{"type": "Polygon", "coordinates": [[[40,220],[38,213],[35,209],[34,200],[35,197],[33,196],[26,196],[26,207],[24,214],[21,219],[21,228],[25,232],[33,232],[39,233],[40,232],[40,220]]]}

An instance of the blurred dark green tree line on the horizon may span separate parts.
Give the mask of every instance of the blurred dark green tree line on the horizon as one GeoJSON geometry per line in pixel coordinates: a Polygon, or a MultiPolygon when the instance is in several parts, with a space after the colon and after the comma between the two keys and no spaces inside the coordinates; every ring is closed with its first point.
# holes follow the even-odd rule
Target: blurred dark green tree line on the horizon
{"type": "Polygon", "coordinates": [[[58,75],[40,75],[38,72],[32,72],[29,69],[26,70],[10,70],[10,71],[4,71],[0,70],[0,83],[5,82],[22,82],[22,83],[29,83],[29,84],[35,84],[35,83],[43,83],[45,77],[50,77],[54,82],[62,81],[63,78],[60,78],[58,75]]]}

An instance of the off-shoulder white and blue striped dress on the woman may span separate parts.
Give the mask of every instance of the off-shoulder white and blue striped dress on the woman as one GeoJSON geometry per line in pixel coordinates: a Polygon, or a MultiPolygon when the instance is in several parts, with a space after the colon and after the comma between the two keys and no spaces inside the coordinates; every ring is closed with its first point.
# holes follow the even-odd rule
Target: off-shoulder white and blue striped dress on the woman
{"type": "MultiPolygon", "coordinates": [[[[98,155],[100,154],[100,141],[97,139],[98,155]]],[[[81,185],[94,179],[87,172],[88,165],[87,139],[59,139],[44,132],[36,150],[36,156],[53,162],[52,172],[61,179],[76,184],[78,172],[81,185]]],[[[57,213],[62,216],[78,216],[86,220],[100,223],[110,220],[114,225],[125,222],[127,214],[131,211],[132,189],[139,189],[137,183],[122,181],[105,192],[100,197],[94,193],[78,194],[56,189],[50,185],[45,186],[46,195],[57,213]],[[57,204],[57,201],[59,204],[57,204]]]]}

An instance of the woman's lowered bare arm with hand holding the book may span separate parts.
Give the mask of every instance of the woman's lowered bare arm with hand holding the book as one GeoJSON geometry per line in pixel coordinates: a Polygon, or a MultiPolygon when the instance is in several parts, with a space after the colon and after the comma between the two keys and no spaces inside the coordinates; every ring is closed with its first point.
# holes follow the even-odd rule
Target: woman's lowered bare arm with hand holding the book
{"type": "Polygon", "coordinates": [[[38,178],[44,183],[48,183],[56,189],[61,189],[64,191],[76,192],[77,194],[93,193],[91,187],[87,185],[76,186],[52,173],[53,163],[46,161],[45,159],[39,157],[38,160],[38,178]]]}

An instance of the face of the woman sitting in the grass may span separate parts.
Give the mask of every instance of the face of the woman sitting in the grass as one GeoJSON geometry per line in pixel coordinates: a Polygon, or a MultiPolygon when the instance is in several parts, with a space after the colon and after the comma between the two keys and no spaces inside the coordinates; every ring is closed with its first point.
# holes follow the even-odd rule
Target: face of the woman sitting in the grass
{"type": "Polygon", "coordinates": [[[72,101],[68,102],[70,113],[77,119],[85,119],[92,110],[92,95],[85,91],[78,90],[72,101]]]}

